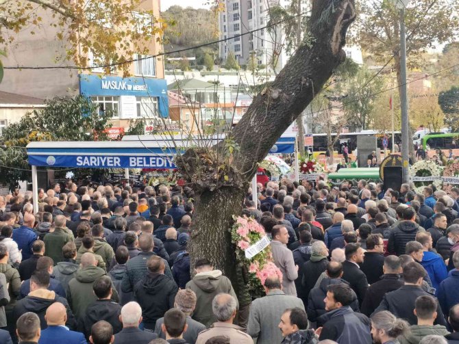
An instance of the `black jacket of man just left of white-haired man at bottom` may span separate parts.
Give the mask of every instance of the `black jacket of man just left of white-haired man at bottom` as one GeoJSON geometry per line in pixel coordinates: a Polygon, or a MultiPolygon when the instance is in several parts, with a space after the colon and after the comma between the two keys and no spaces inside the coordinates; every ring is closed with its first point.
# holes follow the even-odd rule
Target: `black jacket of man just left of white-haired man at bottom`
{"type": "Polygon", "coordinates": [[[86,308],[84,317],[79,319],[78,330],[83,332],[88,340],[91,334],[91,326],[99,320],[105,320],[112,326],[113,334],[116,334],[123,329],[123,323],[119,321],[120,314],[120,304],[112,300],[96,300],[86,308]]]}

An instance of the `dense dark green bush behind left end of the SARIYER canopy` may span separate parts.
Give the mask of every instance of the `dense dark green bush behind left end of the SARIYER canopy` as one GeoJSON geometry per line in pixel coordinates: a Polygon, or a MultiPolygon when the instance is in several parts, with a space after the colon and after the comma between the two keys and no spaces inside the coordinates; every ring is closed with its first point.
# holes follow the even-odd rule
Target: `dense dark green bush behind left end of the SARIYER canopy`
{"type": "Polygon", "coordinates": [[[19,122],[3,129],[0,142],[0,183],[14,186],[30,178],[25,146],[38,141],[108,140],[111,111],[99,107],[84,96],[53,98],[46,107],[26,114],[19,122]],[[22,170],[21,170],[22,169],[22,170]]]}

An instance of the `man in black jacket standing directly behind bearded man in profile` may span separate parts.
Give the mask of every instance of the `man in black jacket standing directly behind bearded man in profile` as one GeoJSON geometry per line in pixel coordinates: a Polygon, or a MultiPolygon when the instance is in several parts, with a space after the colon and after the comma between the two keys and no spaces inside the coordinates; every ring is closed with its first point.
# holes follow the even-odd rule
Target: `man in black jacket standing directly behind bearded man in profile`
{"type": "MultiPolygon", "coordinates": [[[[327,265],[325,270],[328,278],[323,278],[319,287],[314,287],[309,293],[308,297],[308,308],[306,312],[308,313],[308,319],[310,321],[317,321],[317,326],[322,326],[323,323],[319,323],[317,320],[321,315],[326,313],[324,299],[327,296],[327,289],[330,285],[338,285],[340,283],[349,285],[349,282],[343,280],[343,265],[341,263],[331,261],[327,265]]],[[[356,293],[352,290],[353,301],[349,306],[352,310],[358,312],[358,300],[356,293]]]]}

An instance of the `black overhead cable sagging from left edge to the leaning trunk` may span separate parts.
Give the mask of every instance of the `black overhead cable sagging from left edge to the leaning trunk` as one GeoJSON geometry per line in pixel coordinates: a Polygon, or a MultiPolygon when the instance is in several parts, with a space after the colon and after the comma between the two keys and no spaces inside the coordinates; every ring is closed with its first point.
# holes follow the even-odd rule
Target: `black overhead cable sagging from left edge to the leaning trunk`
{"type": "Polygon", "coordinates": [[[165,55],[172,55],[172,54],[175,54],[175,53],[183,53],[184,51],[190,51],[190,50],[194,50],[194,49],[208,47],[209,45],[212,45],[212,44],[226,42],[226,41],[232,40],[232,39],[234,39],[236,37],[242,37],[242,36],[245,36],[245,35],[253,34],[254,32],[267,29],[268,27],[273,27],[275,25],[279,25],[279,24],[285,23],[287,21],[291,21],[294,18],[297,18],[299,16],[304,16],[304,15],[306,15],[308,13],[309,12],[302,12],[300,14],[296,14],[295,16],[291,16],[290,18],[286,18],[286,19],[284,19],[282,21],[277,21],[275,23],[271,23],[270,25],[266,25],[264,27],[259,27],[258,29],[253,29],[251,31],[247,31],[247,32],[244,32],[242,34],[237,34],[237,35],[234,35],[234,36],[231,36],[231,37],[222,38],[221,40],[214,40],[213,42],[199,44],[199,45],[197,45],[195,47],[177,49],[177,50],[174,50],[174,51],[166,51],[164,53],[158,53],[156,55],[147,55],[145,57],[140,57],[140,58],[137,58],[137,59],[128,59],[127,61],[124,61],[124,62],[116,62],[116,63],[113,63],[113,64],[104,64],[104,65],[101,65],[101,66],[90,66],[90,67],[78,67],[78,66],[44,66],[44,67],[43,66],[42,67],[16,66],[16,67],[3,67],[3,69],[27,69],[27,70],[29,70],[29,69],[32,69],[32,70],[41,70],[41,69],[78,69],[78,70],[91,70],[91,69],[94,69],[94,68],[110,68],[110,67],[114,67],[114,66],[121,66],[121,65],[124,65],[124,64],[131,64],[132,62],[142,61],[144,59],[151,59],[151,58],[165,56],[165,55]]]}

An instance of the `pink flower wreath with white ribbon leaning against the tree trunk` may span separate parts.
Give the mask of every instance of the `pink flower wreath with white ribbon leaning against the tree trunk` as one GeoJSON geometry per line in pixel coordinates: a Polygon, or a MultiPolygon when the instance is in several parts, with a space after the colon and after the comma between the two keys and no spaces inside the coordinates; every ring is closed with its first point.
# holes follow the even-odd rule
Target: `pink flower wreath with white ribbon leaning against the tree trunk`
{"type": "Polygon", "coordinates": [[[266,237],[264,228],[252,217],[234,217],[231,229],[232,243],[236,246],[238,263],[247,267],[248,286],[252,295],[261,296],[264,293],[264,282],[269,276],[279,276],[282,281],[282,272],[273,263],[271,246],[266,246],[251,259],[245,255],[245,250],[254,243],[266,237]]]}

